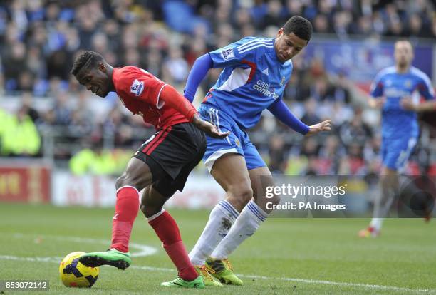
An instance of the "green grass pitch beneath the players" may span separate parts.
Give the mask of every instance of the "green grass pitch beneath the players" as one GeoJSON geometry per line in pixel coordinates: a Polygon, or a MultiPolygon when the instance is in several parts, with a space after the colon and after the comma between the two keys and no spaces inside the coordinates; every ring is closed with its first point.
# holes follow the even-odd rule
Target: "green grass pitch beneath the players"
{"type": "MultiPolygon", "coordinates": [[[[209,212],[170,213],[191,249],[209,212]]],[[[2,294],[436,294],[434,220],[387,219],[378,239],[359,239],[367,219],[271,218],[230,257],[244,286],[192,290],[160,286],[176,271],[142,213],[132,242],[155,254],[133,258],[125,271],[100,267],[91,289],[66,288],[58,278],[61,258],[107,249],[112,215],[113,209],[0,203],[0,280],[50,281],[48,292],[2,294]]]]}

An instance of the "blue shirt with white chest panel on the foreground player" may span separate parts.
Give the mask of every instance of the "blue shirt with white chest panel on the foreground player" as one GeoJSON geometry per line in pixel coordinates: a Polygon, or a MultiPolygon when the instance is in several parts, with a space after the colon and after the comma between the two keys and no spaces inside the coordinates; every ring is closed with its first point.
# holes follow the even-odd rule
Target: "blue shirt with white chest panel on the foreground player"
{"type": "Polygon", "coordinates": [[[241,128],[256,125],[291,78],[292,62],[279,61],[274,38],[246,37],[209,56],[213,68],[224,69],[204,103],[230,115],[241,128]]]}

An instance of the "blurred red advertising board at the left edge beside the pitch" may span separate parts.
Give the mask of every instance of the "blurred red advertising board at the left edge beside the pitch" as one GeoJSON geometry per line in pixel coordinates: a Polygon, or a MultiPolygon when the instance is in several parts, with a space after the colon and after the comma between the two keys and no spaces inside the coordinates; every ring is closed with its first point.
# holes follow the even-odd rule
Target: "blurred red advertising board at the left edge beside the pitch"
{"type": "Polygon", "coordinates": [[[43,166],[0,166],[0,202],[50,202],[50,173],[43,166]]]}

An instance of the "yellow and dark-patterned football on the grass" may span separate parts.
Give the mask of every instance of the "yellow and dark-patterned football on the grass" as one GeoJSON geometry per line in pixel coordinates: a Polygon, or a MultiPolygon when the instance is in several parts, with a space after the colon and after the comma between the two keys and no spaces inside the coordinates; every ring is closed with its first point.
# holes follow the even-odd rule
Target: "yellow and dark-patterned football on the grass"
{"type": "Polygon", "coordinates": [[[81,264],[78,259],[85,252],[72,252],[62,259],[59,265],[59,275],[65,286],[90,288],[98,279],[100,269],[81,264]]]}

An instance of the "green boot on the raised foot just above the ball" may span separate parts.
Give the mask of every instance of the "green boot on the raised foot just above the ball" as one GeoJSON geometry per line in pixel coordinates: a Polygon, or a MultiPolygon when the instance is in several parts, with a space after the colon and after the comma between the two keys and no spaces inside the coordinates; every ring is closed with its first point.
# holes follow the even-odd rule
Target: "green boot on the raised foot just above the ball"
{"type": "Polygon", "coordinates": [[[132,264],[129,252],[120,252],[110,249],[105,252],[92,252],[79,257],[79,262],[85,266],[97,267],[100,265],[115,266],[118,269],[127,269],[132,264]]]}

